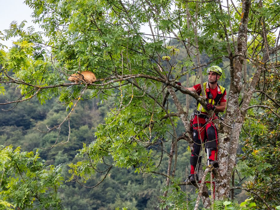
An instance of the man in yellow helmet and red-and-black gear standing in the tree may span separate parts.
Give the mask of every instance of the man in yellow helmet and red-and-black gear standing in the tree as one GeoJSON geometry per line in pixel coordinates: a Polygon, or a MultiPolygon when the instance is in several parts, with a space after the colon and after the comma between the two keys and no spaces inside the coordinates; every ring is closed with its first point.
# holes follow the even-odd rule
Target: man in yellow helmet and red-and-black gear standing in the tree
{"type": "MultiPolygon", "coordinates": [[[[193,113],[193,119],[191,119],[191,126],[193,128],[193,151],[190,157],[190,175],[189,181],[196,182],[198,176],[196,174],[196,165],[199,162],[199,154],[201,151],[201,145],[205,142],[205,150],[207,153],[207,164],[217,168],[218,161],[218,135],[215,124],[212,120],[217,117],[215,114],[210,117],[207,111],[212,110],[214,112],[224,112],[227,105],[227,93],[226,89],[218,85],[218,79],[222,75],[222,69],[219,66],[213,65],[207,69],[208,81],[203,83],[204,91],[206,94],[207,105],[205,108],[197,102],[196,109],[193,113]],[[205,136],[206,131],[206,136],[205,136]],[[206,140],[206,141],[204,141],[206,140]]],[[[203,91],[201,85],[196,84],[193,87],[187,88],[190,91],[202,96],[203,91]]]]}

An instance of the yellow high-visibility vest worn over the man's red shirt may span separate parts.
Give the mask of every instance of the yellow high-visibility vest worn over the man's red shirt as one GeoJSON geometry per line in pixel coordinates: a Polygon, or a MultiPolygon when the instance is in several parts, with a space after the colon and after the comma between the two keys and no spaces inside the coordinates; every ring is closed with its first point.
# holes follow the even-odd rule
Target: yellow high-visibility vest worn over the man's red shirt
{"type": "MultiPolygon", "coordinates": [[[[203,83],[203,87],[204,87],[204,90],[205,90],[205,93],[206,93],[206,102],[210,103],[212,105],[215,105],[215,106],[220,104],[220,99],[221,99],[221,97],[223,96],[223,94],[224,94],[224,92],[226,90],[224,87],[222,87],[218,83],[217,83],[217,86],[218,86],[217,96],[215,97],[215,99],[213,99],[213,98],[211,99],[209,82],[203,83]]],[[[200,93],[200,96],[202,97],[202,91],[200,93]]],[[[198,103],[198,102],[197,102],[196,108],[197,108],[198,111],[207,112],[206,109],[203,108],[202,105],[200,103],[198,103]]]]}

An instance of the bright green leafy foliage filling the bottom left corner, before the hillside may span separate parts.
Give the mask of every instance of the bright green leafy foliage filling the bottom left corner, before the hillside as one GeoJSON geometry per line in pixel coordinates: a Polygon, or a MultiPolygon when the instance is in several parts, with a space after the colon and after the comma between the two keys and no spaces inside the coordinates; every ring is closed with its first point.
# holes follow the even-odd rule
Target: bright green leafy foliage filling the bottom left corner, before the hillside
{"type": "Polygon", "coordinates": [[[63,209],[60,166],[47,166],[38,152],[22,152],[20,147],[1,146],[0,154],[0,200],[21,209],[63,209]]]}

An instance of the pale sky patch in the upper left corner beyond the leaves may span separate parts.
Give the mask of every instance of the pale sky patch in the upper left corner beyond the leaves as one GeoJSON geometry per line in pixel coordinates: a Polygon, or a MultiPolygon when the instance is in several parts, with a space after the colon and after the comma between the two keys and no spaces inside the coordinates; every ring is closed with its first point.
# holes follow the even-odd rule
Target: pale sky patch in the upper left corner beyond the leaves
{"type": "MultiPolygon", "coordinates": [[[[18,23],[26,20],[26,26],[34,26],[32,23],[32,18],[30,17],[32,14],[32,10],[23,3],[24,0],[0,0],[0,31],[3,33],[4,29],[8,29],[11,22],[16,20],[18,23]]],[[[35,27],[35,26],[34,26],[35,27]]],[[[13,41],[16,41],[16,38],[12,38],[13,41]]],[[[8,47],[12,46],[12,41],[1,43],[7,45],[8,47]]]]}

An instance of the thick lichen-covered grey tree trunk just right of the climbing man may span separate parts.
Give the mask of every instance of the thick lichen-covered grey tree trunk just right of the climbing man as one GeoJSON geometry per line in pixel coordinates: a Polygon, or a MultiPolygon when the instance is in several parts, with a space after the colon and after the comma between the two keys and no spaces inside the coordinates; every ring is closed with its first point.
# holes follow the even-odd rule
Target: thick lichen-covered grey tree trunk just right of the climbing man
{"type": "MultiPolygon", "coordinates": [[[[243,0],[242,15],[239,25],[235,58],[230,56],[230,91],[228,94],[227,113],[225,124],[220,126],[218,161],[220,176],[216,178],[216,198],[224,199],[230,195],[230,179],[236,159],[236,150],[239,142],[244,117],[239,110],[239,94],[242,89],[242,69],[246,62],[247,27],[250,10],[250,0],[243,0]]],[[[250,101],[250,100],[249,100],[250,101]]]]}

